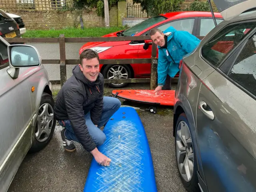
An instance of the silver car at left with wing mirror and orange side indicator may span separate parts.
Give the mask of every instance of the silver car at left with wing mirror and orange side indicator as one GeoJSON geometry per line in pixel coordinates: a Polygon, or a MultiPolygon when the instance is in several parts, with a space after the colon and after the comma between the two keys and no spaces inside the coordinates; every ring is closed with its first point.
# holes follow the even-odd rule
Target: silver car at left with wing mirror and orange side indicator
{"type": "Polygon", "coordinates": [[[0,37],[0,191],[27,152],[44,148],[56,125],[48,74],[38,51],[0,37]]]}

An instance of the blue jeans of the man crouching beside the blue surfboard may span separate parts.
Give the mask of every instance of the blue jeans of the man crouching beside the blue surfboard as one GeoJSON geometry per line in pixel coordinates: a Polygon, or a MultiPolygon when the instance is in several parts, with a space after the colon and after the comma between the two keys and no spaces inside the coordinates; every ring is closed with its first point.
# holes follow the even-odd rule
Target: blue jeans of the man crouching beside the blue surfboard
{"type": "MultiPolygon", "coordinates": [[[[106,124],[106,122],[120,108],[120,106],[121,102],[117,98],[104,96],[102,115],[97,127],[92,123],[90,112],[84,115],[84,119],[86,121],[85,124],[87,126],[88,132],[97,146],[102,145],[106,140],[106,135],[102,132],[102,130],[100,130],[100,127],[106,124]]],[[[70,120],[59,120],[58,123],[62,127],[66,128],[65,136],[68,140],[73,140],[79,143],[70,124],[70,120]]]]}

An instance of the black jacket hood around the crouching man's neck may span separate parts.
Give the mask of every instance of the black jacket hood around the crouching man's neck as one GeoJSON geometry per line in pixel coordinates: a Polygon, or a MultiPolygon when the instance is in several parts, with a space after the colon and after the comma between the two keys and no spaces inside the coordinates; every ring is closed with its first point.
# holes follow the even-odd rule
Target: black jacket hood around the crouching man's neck
{"type": "Polygon", "coordinates": [[[72,69],[72,73],[74,74],[74,76],[82,81],[84,84],[88,85],[89,87],[94,87],[97,86],[98,84],[100,84],[100,82],[103,79],[103,76],[99,73],[97,79],[94,82],[89,81],[84,74],[82,73],[82,71],[80,70],[79,65],[76,65],[73,69],[72,69]]]}

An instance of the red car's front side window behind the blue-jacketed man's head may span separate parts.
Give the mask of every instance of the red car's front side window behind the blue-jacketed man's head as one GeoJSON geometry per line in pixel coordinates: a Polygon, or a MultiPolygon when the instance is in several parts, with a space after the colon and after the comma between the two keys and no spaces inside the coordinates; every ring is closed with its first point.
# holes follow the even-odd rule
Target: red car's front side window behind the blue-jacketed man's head
{"type": "Polygon", "coordinates": [[[194,18],[191,19],[181,19],[181,20],[176,20],[172,22],[168,22],[166,24],[163,24],[158,27],[161,31],[166,30],[168,27],[172,26],[178,31],[187,31],[190,34],[192,34],[192,30],[194,27],[194,18]]]}

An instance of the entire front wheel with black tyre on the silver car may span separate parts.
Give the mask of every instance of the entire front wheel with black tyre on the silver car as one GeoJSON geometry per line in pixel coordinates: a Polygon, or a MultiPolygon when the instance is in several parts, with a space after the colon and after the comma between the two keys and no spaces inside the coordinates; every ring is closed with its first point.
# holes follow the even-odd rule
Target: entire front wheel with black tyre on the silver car
{"type": "Polygon", "coordinates": [[[32,144],[32,147],[29,150],[30,153],[38,152],[38,151],[42,150],[44,147],[46,147],[48,145],[48,143],[50,142],[50,140],[52,138],[52,134],[53,134],[55,126],[56,126],[56,118],[54,117],[54,112],[53,112],[54,104],[55,104],[55,102],[54,102],[54,99],[52,98],[52,96],[50,96],[50,94],[44,92],[42,94],[40,107],[38,110],[38,120],[36,122],[35,139],[32,144]],[[47,110],[48,115],[44,115],[44,110],[46,108],[48,109],[47,110]],[[39,114],[42,114],[42,117],[40,117],[39,114]],[[49,123],[49,122],[51,122],[51,123],[49,123]],[[38,138],[39,137],[38,126],[40,126],[40,127],[42,126],[43,129],[45,129],[47,126],[50,127],[50,129],[47,130],[48,131],[47,134],[44,134],[45,136],[42,135],[42,138],[38,138]]]}

